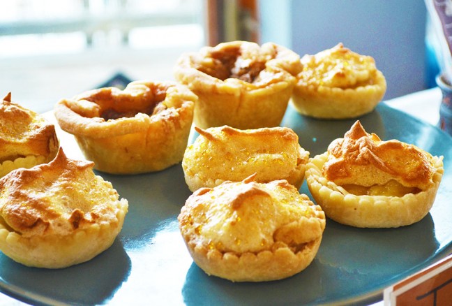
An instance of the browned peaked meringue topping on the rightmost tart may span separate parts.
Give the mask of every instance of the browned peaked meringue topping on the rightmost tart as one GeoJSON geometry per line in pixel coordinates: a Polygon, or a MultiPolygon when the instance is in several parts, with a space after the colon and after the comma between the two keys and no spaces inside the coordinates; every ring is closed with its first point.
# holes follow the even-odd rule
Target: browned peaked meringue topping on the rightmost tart
{"type": "Polygon", "coordinates": [[[395,180],[404,187],[425,190],[433,183],[435,168],[428,152],[399,140],[382,141],[367,133],[359,120],[344,138],[333,140],[328,153],[323,175],[338,185],[370,187],[395,180]]]}

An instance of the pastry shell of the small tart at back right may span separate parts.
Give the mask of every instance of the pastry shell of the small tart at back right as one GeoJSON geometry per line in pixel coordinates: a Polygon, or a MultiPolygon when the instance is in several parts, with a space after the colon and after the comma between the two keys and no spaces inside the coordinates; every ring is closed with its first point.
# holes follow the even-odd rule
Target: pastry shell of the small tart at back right
{"type": "Polygon", "coordinates": [[[372,112],[386,92],[386,79],[377,71],[372,85],[342,89],[305,85],[297,80],[292,105],[297,112],[321,119],[347,119],[372,112]]]}

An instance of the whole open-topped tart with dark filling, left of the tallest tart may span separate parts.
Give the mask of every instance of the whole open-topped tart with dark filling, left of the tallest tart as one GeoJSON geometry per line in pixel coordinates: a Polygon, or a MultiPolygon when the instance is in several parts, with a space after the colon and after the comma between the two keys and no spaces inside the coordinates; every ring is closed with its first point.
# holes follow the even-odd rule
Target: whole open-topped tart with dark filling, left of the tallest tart
{"type": "Polygon", "coordinates": [[[163,170],[186,149],[197,96],[175,82],[131,82],[94,89],[55,106],[61,129],[105,173],[163,170]]]}

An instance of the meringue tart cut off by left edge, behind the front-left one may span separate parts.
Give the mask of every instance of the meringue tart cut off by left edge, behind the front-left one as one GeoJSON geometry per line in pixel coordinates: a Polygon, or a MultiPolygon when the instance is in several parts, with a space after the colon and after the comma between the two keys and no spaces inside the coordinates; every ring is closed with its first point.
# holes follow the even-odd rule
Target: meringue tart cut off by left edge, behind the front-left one
{"type": "Polygon", "coordinates": [[[55,127],[36,112],[11,101],[0,102],[0,177],[16,168],[48,163],[57,155],[55,127]]]}

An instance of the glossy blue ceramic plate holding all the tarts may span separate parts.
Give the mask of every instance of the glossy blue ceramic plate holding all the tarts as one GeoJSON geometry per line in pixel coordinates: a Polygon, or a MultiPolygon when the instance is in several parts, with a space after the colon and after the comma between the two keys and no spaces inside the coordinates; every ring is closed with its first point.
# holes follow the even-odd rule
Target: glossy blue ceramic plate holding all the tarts
{"type": "MultiPolygon", "coordinates": [[[[359,118],[368,132],[444,156],[445,173],[430,213],[412,226],[363,229],[330,219],[317,257],[276,282],[233,283],[193,263],[176,217],[190,191],[181,165],[146,175],[102,175],[127,198],[129,212],[114,245],[93,260],[61,270],[27,268],[0,254],[0,290],[33,304],[277,305],[368,304],[382,290],[452,252],[452,138],[384,103],[359,118]]],[[[351,120],[303,117],[289,106],[283,126],[311,156],[342,137],[351,120]]],[[[73,142],[61,133],[61,143],[73,142]]],[[[72,150],[72,149],[70,149],[72,150]]],[[[68,150],[66,150],[67,152],[68,150]]],[[[306,183],[301,192],[308,195],[306,183]]]]}

